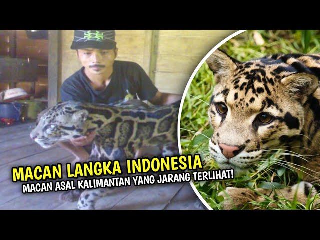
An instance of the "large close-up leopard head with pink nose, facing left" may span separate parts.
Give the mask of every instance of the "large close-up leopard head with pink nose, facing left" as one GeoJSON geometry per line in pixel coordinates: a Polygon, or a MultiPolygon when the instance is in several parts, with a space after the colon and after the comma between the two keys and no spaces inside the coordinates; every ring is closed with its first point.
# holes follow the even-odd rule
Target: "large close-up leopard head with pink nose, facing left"
{"type": "Polygon", "coordinates": [[[304,104],[318,79],[279,59],[239,62],[219,50],[207,59],[216,82],[208,110],[214,128],[209,151],[222,169],[244,173],[268,150],[303,135],[304,104]]]}

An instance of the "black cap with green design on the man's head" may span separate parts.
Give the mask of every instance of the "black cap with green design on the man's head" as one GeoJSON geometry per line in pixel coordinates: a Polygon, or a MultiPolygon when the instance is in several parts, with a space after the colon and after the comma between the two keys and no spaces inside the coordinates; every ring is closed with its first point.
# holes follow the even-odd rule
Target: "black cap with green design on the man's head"
{"type": "Polygon", "coordinates": [[[113,49],[115,46],[115,30],[74,30],[71,49],[113,49]]]}

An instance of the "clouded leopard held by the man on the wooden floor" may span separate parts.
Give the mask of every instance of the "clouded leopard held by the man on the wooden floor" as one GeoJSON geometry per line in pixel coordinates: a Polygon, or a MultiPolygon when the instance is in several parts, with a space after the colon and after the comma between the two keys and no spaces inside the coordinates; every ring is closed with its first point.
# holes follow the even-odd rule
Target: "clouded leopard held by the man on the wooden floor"
{"type": "MultiPolygon", "coordinates": [[[[88,161],[119,160],[125,169],[126,159],[178,155],[179,106],[180,102],[149,106],[135,99],[109,105],[62,102],[41,116],[30,136],[40,146],[49,148],[95,131],[88,161]]],[[[109,191],[102,188],[83,191],[77,196],[77,208],[94,209],[96,201],[109,191]]]]}

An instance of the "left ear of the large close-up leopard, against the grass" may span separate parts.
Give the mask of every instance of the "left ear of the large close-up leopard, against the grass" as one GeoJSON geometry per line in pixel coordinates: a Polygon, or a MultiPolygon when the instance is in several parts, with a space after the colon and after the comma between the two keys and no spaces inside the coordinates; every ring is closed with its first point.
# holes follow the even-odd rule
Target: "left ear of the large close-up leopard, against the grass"
{"type": "Polygon", "coordinates": [[[206,60],[206,63],[211,71],[213,71],[216,83],[228,80],[237,65],[240,64],[239,61],[220,50],[215,50],[206,60]]]}

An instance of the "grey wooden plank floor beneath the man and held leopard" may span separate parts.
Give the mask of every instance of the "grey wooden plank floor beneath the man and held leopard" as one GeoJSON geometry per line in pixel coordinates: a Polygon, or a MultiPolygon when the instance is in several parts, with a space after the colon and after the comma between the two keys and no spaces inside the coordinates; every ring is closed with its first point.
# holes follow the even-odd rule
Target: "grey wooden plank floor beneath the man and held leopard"
{"type": "MultiPolygon", "coordinates": [[[[34,123],[0,127],[0,209],[75,209],[76,202],[59,200],[61,192],[23,194],[13,183],[11,168],[66,163],[70,153],[53,147],[43,149],[31,140],[34,123]]],[[[121,187],[96,203],[96,209],[205,209],[189,183],[121,187]]]]}

